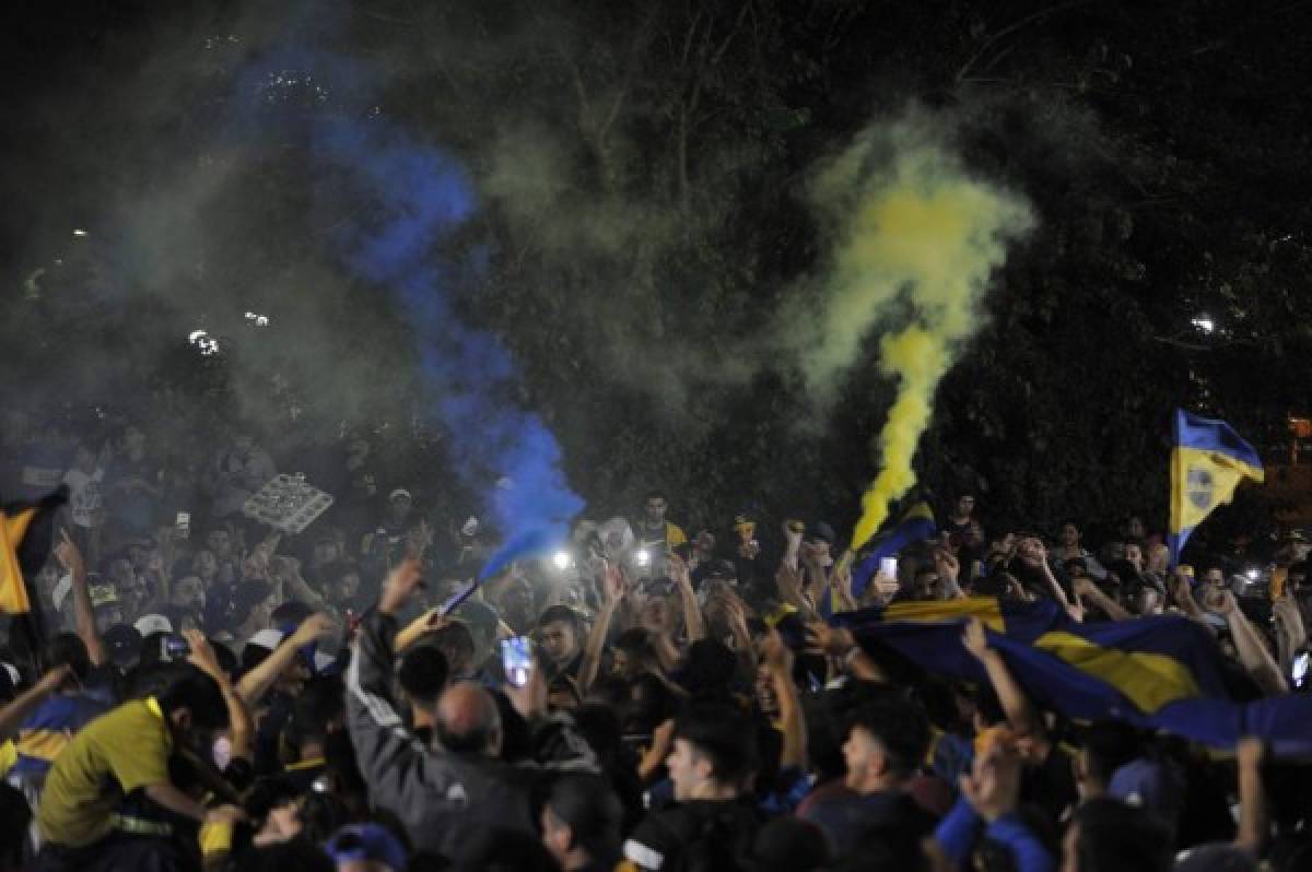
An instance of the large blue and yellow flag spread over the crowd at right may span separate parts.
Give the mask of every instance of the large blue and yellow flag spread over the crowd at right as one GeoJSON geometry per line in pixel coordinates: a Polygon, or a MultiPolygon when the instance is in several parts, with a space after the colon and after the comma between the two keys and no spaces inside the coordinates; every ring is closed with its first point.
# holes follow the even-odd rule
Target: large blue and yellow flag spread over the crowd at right
{"type": "Polygon", "coordinates": [[[1312,696],[1231,699],[1216,641],[1187,618],[1081,624],[1050,601],[981,597],[895,603],[836,620],[929,673],[983,683],[984,667],[960,641],[972,616],[1025,691],[1067,717],[1124,720],[1220,749],[1260,736],[1278,754],[1312,754],[1312,696]]]}

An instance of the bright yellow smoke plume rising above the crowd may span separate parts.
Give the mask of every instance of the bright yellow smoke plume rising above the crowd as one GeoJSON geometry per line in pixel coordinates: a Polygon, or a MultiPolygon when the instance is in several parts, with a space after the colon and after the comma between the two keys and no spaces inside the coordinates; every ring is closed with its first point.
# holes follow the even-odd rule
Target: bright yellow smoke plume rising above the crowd
{"type": "Polygon", "coordinates": [[[858,136],[824,168],[813,195],[836,243],[820,336],[803,358],[807,380],[824,397],[876,325],[887,330],[879,368],[897,380],[857,549],[916,484],[912,460],[938,383],[981,324],[979,303],[1008,243],[1033,219],[1023,201],[972,178],[924,117],[858,136]]]}

